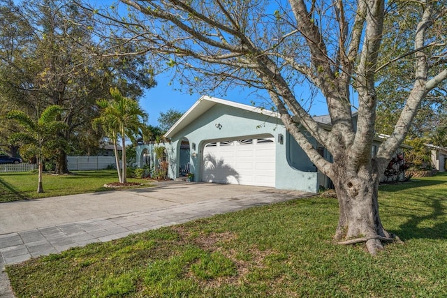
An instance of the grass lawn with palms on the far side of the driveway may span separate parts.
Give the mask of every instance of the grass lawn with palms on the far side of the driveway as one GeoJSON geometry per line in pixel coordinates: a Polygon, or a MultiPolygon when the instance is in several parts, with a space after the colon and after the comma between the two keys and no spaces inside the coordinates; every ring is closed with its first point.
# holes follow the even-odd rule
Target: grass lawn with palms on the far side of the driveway
{"type": "MultiPolygon", "coordinates": [[[[37,193],[37,173],[0,172],[0,202],[110,191],[104,184],[117,182],[116,170],[73,171],[69,175],[43,174],[43,191],[37,193]]],[[[128,178],[128,182],[147,181],[128,178]]]]}

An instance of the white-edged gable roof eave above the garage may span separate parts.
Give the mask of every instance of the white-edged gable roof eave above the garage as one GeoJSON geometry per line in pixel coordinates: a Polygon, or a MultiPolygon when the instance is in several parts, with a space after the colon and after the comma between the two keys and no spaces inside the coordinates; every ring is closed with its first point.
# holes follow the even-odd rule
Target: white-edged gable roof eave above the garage
{"type": "Polygon", "coordinates": [[[224,100],[211,96],[201,96],[196,101],[196,103],[194,103],[193,106],[190,107],[189,110],[187,110],[186,113],[184,113],[177,122],[175,122],[173,127],[171,127],[169,131],[165,133],[165,137],[173,137],[173,135],[181,131],[188,124],[191,124],[191,122],[200,117],[200,115],[205,113],[207,110],[210,110],[211,107],[217,104],[228,105],[230,107],[236,107],[238,109],[247,110],[249,112],[256,112],[259,114],[265,114],[270,117],[279,118],[279,113],[261,109],[260,107],[244,105],[243,103],[235,103],[234,101],[224,100]]]}

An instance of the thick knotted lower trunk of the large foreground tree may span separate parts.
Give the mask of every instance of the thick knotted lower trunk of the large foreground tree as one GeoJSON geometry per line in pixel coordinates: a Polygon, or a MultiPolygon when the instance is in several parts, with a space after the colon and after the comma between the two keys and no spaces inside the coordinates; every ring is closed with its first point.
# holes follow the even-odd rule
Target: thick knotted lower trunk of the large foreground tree
{"type": "Polygon", "coordinates": [[[339,221],[335,240],[339,244],[365,242],[369,253],[383,249],[382,241],[392,241],[379,217],[379,174],[374,169],[339,171],[332,177],[339,201],[339,221]]]}

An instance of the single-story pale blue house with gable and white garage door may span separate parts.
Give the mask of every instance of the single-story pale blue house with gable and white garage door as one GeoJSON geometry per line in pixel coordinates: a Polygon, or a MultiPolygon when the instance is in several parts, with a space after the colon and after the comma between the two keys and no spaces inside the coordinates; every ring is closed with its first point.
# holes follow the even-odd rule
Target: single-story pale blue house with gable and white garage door
{"type": "MultiPolygon", "coordinates": [[[[330,128],[329,117],[316,121],[330,128]]],[[[159,167],[154,147],[164,147],[171,179],[191,172],[193,181],[309,193],[332,183],[286,131],[279,114],[270,110],[202,96],[165,136],[170,142],[138,145],[139,167],[159,167]]],[[[329,152],[310,135],[309,140],[330,161],[329,152]]]]}

